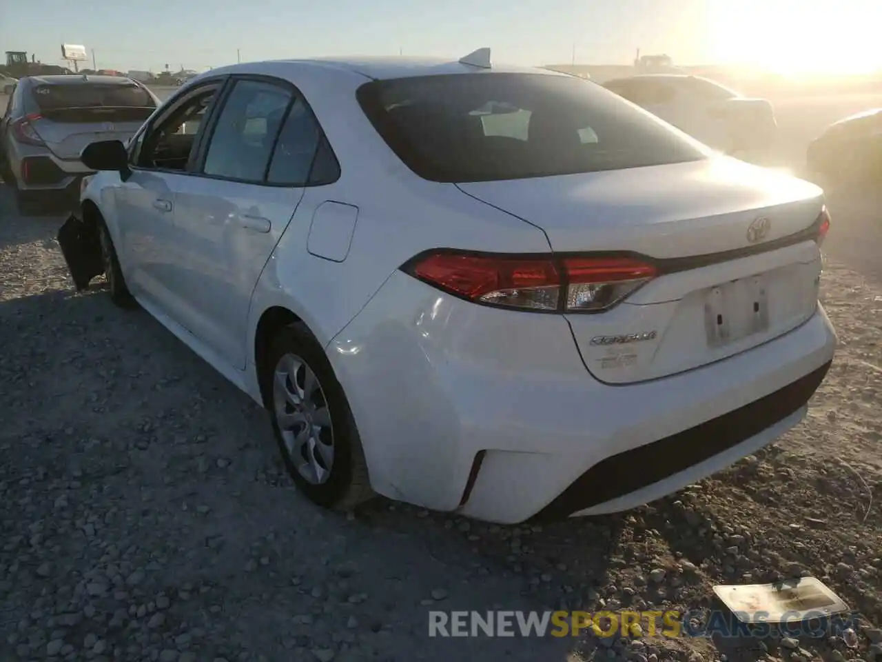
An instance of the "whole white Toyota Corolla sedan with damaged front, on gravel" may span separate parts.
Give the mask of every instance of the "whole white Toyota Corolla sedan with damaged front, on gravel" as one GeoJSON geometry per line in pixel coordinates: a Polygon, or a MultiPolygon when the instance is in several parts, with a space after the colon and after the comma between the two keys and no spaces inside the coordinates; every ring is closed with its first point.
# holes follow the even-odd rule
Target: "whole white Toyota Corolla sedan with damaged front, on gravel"
{"type": "Polygon", "coordinates": [[[820,189],[487,49],[214,69],[82,158],[78,288],[265,406],[325,507],[632,508],[799,423],[833,359],[820,189]]]}

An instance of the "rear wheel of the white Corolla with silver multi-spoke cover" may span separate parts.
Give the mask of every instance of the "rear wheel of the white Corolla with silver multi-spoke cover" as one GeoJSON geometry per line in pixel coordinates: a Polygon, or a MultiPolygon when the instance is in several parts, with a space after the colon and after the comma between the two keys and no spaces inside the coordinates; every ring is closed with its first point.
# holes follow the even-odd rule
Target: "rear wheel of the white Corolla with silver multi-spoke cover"
{"type": "Polygon", "coordinates": [[[309,329],[302,323],[280,329],[261,372],[276,443],[297,488],[334,510],[370,500],[374,493],[352,411],[309,329]]]}

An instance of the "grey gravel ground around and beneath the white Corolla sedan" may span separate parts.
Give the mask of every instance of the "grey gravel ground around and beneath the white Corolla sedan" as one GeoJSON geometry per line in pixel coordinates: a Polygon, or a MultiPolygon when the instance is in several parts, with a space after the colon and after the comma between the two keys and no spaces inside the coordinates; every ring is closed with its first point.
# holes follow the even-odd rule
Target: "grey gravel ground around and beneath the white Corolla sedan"
{"type": "Polygon", "coordinates": [[[840,353],[780,443],[630,513],[499,527],[312,507],[245,395],[73,292],[57,227],[0,187],[0,660],[882,659],[882,289],[847,267],[824,276],[840,353]],[[800,574],[863,613],[856,647],[428,637],[433,608],[685,610],[800,574]]]}

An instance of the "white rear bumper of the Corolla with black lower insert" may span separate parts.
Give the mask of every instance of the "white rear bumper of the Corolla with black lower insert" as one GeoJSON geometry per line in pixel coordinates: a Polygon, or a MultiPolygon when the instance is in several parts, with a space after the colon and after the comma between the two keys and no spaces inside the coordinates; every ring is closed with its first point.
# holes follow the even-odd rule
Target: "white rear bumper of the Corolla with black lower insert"
{"type": "Polygon", "coordinates": [[[818,306],[742,354],[607,386],[563,318],[469,304],[396,273],[327,350],[377,492],[518,523],[546,508],[632,508],[765,446],[803,418],[835,344],[818,306]]]}

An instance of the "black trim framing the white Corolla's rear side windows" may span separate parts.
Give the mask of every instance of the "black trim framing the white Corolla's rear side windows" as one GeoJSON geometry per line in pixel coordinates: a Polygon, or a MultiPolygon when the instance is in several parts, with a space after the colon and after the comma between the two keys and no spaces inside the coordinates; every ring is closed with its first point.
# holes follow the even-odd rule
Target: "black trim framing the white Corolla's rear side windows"
{"type": "Polygon", "coordinates": [[[210,120],[206,123],[206,134],[204,134],[203,139],[200,139],[198,144],[195,146],[193,154],[191,154],[191,158],[193,159],[193,168],[191,171],[188,171],[187,174],[193,177],[204,177],[206,179],[214,179],[221,182],[231,182],[234,184],[250,184],[251,186],[266,186],[273,188],[288,188],[288,189],[303,189],[303,188],[313,188],[315,186],[328,186],[330,184],[335,184],[340,181],[340,177],[342,177],[342,166],[340,165],[340,159],[337,157],[337,153],[334,151],[333,146],[331,145],[331,141],[328,139],[327,134],[325,133],[325,128],[322,126],[321,122],[318,121],[318,116],[315,111],[312,109],[309,100],[307,100],[306,95],[303,94],[300,89],[295,86],[289,80],[280,79],[275,76],[269,76],[260,73],[235,73],[231,74],[228,77],[227,84],[224,89],[221,90],[221,95],[218,98],[218,102],[215,104],[214,112],[210,120]],[[285,113],[282,116],[282,121],[279,124],[279,129],[276,132],[275,138],[273,139],[273,149],[270,150],[270,158],[266,162],[266,168],[264,169],[264,177],[260,182],[255,182],[250,179],[240,179],[238,177],[224,177],[221,175],[207,175],[205,172],[205,164],[206,164],[206,156],[207,156],[207,147],[211,145],[211,139],[214,136],[214,130],[217,126],[217,122],[219,117],[221,117],[221,113],[223,109],[227,105],[227,100],[229,95],[232,94],[233,88],[235,87],[235,83],[240,80],[251,80],[258,83],[268,83],[270,85],[274,85],[276,87],[285,88],[288,92],[291,93],[291,99],[288,101],[288,107],[285,109],[285,113]],[[269,175],[269,169],[273,164],[273,155],[275,154],[276,147],[279,143],[279,137],[281,135],[282,130],[284,129],[285,122],[288,120],[288,114],[291,112],[291,109],[294,108],[295,102],[297,100],[303,102],[303,105],[306,107],[306,111],[312,117],[312,120],[318,126],[318,141],[316,143],[315,153],[312,154],[312,162],[310,163],[310,170],[306,176],[306,181],[303,184],[279,184],[266,181],[266,178],[269,175]],[[316,158],[318,157],[318,150],[322,146],[322,143],[325,143],[328,150],[330,150],[331,155],[333,156],[334,162],[337,164],[337,173],[336,177],[330,180],[320,181],[320,182],[311,182],[312,179],[312,170],[316,164],[316,158]]]}

